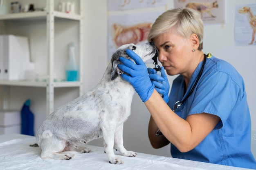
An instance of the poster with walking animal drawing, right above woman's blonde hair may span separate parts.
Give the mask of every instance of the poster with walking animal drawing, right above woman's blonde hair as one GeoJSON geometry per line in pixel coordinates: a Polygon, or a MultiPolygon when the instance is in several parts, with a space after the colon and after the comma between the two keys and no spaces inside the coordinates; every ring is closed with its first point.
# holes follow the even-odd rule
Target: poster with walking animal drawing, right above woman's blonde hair
{"type": "Polygon", "coordinates": [[[174,0],[174,6],[195,9],[204,24],[225,23],[225,0],[174,0]]]}

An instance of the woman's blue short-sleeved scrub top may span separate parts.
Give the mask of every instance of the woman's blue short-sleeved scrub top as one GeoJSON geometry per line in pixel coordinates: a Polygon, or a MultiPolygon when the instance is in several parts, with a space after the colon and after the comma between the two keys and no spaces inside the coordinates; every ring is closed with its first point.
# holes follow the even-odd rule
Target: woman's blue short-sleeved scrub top
{"type": "MultiPolygon", "coordinates": [[[[183,76],[175,78],[168,102],[171,109],[188,95],[201,67],[202,62],[191,76],[185,95],[183,76]]],[[[204,112],[219,116],[221,121],[189,152],[182,153],[171,144],[173,157],[256,169],[251,152],[251,118],[245,85],[242,76],[232,65],[214,56],[207,58],[202,76],[183,105],[184,109],[176,112],[183,119],[204,112]]]]}

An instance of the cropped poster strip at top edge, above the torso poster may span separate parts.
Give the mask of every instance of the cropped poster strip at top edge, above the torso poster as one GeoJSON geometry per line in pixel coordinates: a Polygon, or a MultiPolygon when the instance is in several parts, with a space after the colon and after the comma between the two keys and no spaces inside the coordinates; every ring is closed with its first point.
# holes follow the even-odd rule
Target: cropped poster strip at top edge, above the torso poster
{"type": "Polygon", "coordinates": [[[108,0],[108,10],[161,7],[164,5],[166,5],[166,0],[108,0]]]}

